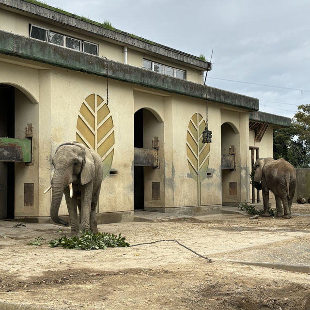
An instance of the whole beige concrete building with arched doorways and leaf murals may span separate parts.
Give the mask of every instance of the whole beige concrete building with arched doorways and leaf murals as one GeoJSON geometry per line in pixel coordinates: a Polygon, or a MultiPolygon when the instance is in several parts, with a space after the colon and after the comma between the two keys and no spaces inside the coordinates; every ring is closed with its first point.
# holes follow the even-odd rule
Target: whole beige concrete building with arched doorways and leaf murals
{"type": "Polygon", "coordinates": [[[209,214],[249,202],[250,147],[272,157],[273,128],[290,119],[203,85],[207,70],[85,18],[0,0],[0,217],[50,221],[51,156],[72,140],[102,156],[100,223],[140,208],[209,214]],[[202,143],[206,107],[212,143],[202,143]]]}

